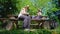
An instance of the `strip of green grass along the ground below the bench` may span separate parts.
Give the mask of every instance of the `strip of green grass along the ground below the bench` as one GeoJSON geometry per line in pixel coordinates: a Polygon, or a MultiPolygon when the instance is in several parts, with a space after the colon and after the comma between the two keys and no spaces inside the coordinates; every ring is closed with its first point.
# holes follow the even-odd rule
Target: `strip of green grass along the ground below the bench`
{"type": "MultiPolygon", "coordinates": [[[[33,30],[33,29],[31,29],[33,30]]],[[[33,31],[24,31],[23,29],[15,30],[0,30],[0,34],[60,34],[59,29],[48,30],[48,29],[34,29],[33,31]]]]}

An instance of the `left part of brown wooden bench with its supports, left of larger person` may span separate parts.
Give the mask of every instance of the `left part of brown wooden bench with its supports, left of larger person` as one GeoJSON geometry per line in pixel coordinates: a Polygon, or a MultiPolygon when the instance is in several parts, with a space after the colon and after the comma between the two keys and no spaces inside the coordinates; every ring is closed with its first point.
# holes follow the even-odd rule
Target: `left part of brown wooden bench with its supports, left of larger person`
{"type": "Polygon", "coordinates": [[[15,24],[15,28],[17,28],[17,19],[16,18],[0,18],[2,22],[2,28],[6,30],[11,30],[13,28],[13,24],[15,24]],[[8,22],[8,23],[7,23],[8,22]]]}

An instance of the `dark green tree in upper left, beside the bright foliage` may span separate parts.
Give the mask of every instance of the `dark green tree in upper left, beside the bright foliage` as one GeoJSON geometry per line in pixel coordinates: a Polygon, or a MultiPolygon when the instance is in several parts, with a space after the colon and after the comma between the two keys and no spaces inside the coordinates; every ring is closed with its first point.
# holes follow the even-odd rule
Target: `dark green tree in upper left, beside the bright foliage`
{"type": "Polygon", "coordinates": [[[16,12],[16,0],[0,0],[0,15],[6,17],[8,14],[16,12]]]}

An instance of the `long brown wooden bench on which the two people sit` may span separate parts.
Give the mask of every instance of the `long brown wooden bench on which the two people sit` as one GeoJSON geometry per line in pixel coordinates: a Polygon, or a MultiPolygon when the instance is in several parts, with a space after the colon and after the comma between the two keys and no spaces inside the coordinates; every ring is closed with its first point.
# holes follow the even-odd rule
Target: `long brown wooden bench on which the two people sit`
{"type": "MultiPolygon", "coordinates": [[[[10,21],[12,21],[12,24],[15,24],[15,28],[17,28],[18,27],[18,19],[17,19],[17,16],[16,15],[9,15],[8,16],[9,18],[0,18],[0,20],[2,20],[2,21],[4,21],[4,20],[10,20],[10,21]]],[[[43,16],[41,19],[31,19],[31,21],[35,21],[35,22],[37,22],[38,23],[38,27],[40,28],[44,28],[44,24],[45,24],[45,22],[46,21],[49,21],[49,19],[46,19],[47,17],[46,16],[43,16]],[[45,18],[45,19],[43,19],[43,18],[45,18]]],[[[12,27],[12,26],[11,26],[12,27]]]]}

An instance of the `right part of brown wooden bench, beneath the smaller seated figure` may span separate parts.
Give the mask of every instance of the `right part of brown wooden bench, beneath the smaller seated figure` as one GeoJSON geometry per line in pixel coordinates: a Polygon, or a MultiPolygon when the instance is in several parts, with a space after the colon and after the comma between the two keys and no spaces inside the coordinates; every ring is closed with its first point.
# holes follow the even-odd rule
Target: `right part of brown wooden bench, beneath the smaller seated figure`
{"type": "MultiPolygon", "coordinates": [[[[38,26],[37,26],[38,28],[44,28],[46,24],[49,24],[49,18],[47,16],[42,16],[42,18],[40,18],[40,19],[34,18],[34,19],[32,19],[32,21],[38,23],[38,26]]],[[[49,27],[49,25],[48,25],[48,27],[49,27]]]]}

